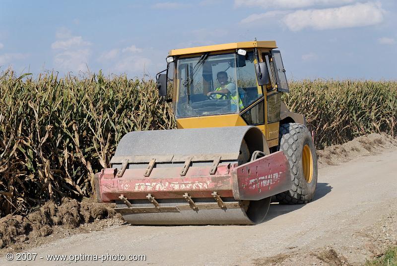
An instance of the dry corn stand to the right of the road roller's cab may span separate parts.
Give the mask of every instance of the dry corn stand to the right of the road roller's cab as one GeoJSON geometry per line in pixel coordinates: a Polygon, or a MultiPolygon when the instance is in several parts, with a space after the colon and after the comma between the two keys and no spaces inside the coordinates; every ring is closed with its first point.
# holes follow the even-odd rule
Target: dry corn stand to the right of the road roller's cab
{"type": "Polygon", "coordinates": [[[293,81],[283,101],[304,114],[317,149],[360,135],[397,134],[396,81],[293,81]]]}

